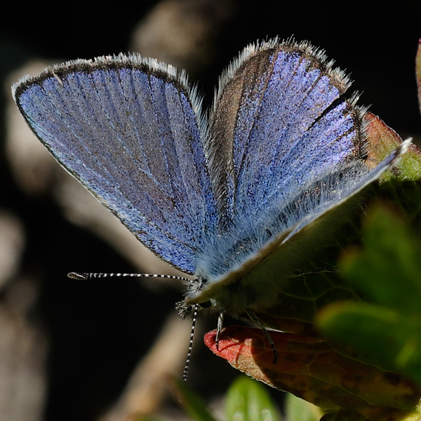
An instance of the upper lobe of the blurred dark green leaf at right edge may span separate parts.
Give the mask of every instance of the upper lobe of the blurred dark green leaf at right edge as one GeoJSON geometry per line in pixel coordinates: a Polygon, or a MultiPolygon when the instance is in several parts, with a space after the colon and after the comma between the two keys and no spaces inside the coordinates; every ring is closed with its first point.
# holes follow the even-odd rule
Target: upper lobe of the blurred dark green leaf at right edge
{"type": "Polygon", "coordinates": [[[413,229],[386,207],[375,206],[363,227],[363,242],[363,253],[348,253],[342,260],[346,278],[378,303],[419,312],[421,240],[413,229]]]}

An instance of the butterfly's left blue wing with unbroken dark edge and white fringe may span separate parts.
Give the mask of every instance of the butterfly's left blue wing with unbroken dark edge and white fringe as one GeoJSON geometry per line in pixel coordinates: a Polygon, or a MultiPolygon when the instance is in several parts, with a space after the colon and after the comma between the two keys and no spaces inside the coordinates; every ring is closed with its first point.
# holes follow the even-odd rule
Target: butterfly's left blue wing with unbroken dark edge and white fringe
{"type": "Polygon", "coordinates": [[[76,60],[13,96],[55,159],[142,243],[193,273],[215,204],[200,101],[183,75],[138,55],[76,60]]]}

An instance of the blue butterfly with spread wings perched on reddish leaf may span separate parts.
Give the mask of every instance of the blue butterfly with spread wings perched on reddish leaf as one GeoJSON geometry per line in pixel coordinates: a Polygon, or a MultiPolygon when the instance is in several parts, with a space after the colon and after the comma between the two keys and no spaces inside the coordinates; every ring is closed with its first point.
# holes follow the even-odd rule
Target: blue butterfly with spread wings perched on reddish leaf
{"type": "Polygon", "coordinates": [[[74,178],[194,276],[181,312],[253,316],[410,143],[370,168],[349,85],[322,52],[275,39],[229,65],[208,116],[184,72],[136,54],[57,65],[13,97],[74,178]]]}

